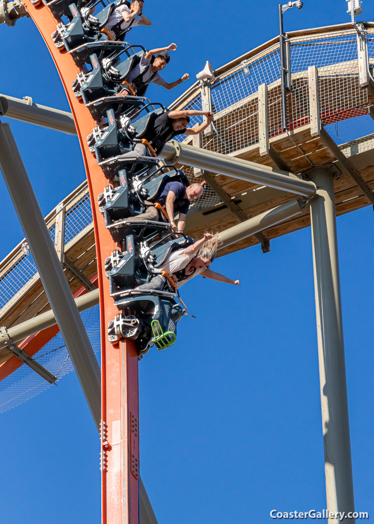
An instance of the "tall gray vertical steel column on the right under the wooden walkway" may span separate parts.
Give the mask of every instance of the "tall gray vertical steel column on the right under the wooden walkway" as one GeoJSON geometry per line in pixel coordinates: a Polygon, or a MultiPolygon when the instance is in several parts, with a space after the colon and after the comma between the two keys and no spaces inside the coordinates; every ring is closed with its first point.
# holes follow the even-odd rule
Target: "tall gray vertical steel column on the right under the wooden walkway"
{"type": "MultiPolygon", "coordinates": [[[[325,449],[327,510],[355,511],[350,452],[347,380],[338,265],[333,174],[314,168],[317,186],[311,201],[318,361],[325,449]]],[[[337,524],[339,519],[328,519],[337,524]]],[[[345,519],[354,524],[354,518],[345,519]]]]}

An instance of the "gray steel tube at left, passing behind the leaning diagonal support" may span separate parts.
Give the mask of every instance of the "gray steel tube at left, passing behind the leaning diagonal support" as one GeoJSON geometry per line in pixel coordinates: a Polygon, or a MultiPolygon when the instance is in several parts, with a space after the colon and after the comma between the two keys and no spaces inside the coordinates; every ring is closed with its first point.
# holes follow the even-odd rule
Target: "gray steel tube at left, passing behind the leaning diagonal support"
{"type": "MultiPolygon", "coordinates": [[[[81,297],[75,299],[76,307],[78,311],[85,311],[86,309],[93,308],[94,305],[99,302],[99,291],[95,289],[89,293],[85,293],[81,297]]],[[[47,311],[46,313],[41,313],[40,315],[34,316],[30,320],[26,320],[21,324],[17,324],[12,328],[7,328],[8,335],[14,343],[20,342],[21,340],[26,339],[27,336],[34,335],[38,331],[43,331],[50,326],[56,324],[56,317],[54,316],[53,311],[47,311]]],[[[1,333],[0,333],[1,335],[1,333]]],[[[0,338],[0,350],[7,347],[7,344],[3,338],[0,338]]]]}

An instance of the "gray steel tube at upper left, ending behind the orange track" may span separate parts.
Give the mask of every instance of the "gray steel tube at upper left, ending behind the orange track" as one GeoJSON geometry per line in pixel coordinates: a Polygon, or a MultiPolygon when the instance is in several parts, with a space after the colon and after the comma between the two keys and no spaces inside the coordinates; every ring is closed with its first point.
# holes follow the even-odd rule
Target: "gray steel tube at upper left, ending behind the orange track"
{"type": "Polygon", "coordinates": [[[30,105],[27,100],[17,99],[14,96],[0,94],[0,116],[47,127],[68,135],[77,134],[71,113],[40,104],[30,105]]]}

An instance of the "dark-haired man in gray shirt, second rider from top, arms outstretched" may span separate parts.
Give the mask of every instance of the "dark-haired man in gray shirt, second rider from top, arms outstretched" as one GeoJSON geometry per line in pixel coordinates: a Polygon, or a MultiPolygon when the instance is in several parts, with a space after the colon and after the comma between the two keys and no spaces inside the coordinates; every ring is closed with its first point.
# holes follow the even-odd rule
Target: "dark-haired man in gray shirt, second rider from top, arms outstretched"
{"type": "MultiPolygon", "coordinates": [[[[143,96],[148,85],[152,82],[156,85],[162,85],[163,88],[170,90],[190,78],[190,75],[185,73],[178,80],[168,83],[159,74],[159,71],[162,71],[170,61],[170,54],[168,51],[175,51],[176,49],[177,45],[171,43],[170,46],[151,49],[141,55],[140,61],[136,63],[123,79],[129,84],[133,93],[137,96],[143,96]]],[[[124,93],[124,90],[130,93],[129,86],[124,84],[122,94],[124,93]]]]}

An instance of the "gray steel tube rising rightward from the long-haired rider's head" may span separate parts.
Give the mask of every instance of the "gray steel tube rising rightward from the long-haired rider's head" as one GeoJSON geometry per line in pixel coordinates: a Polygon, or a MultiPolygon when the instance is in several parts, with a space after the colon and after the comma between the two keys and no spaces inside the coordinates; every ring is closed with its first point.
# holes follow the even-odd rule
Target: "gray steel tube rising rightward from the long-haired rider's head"
{"type": "Polygon", "coordinates": [[[243,238],[254,235],[257,231],[265,230],[267,227],[279,224],[283,222],[283,220],[287,220],[291,218],[291,216],[301,213],[305,205],[306,200],[293,199],[285,204],[279,205],[277,208],[265,211],[265,213],[254,216],[252,219],[230,227],[222,233],[219,233],[219,237],[223,242],[223,244],[219,246],[219,249],[235,244],[235,242],[239,242],[243,240],[243,238]]]}

